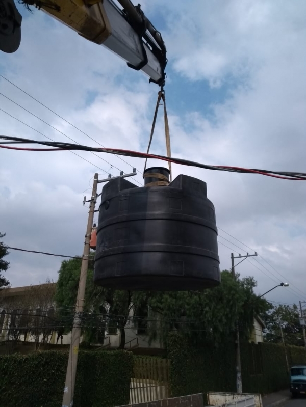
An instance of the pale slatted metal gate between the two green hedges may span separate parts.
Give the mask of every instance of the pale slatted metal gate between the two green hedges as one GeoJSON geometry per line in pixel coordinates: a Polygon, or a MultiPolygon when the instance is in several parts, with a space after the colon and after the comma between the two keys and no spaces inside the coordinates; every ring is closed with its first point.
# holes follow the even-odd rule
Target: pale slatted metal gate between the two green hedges
{"type": "Polygon", "coordinates": [[[162,400],[169,394],[169,360],[135,358],[130,387],[130,404],[162,400]]]}

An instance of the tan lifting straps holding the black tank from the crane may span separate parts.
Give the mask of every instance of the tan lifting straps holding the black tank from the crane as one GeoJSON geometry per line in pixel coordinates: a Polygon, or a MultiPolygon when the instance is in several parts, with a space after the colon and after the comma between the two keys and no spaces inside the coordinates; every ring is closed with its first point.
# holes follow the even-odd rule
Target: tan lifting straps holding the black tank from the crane
{"type": "MultiPolygon", "coordinates": [[[[159,108],[159,106],[161,106],[161,103],[160,103],[161,100],[163,101],[163,104],[164,104],[164,123],[165,123],[165,139],[166,139],[167,157],[171,158],[169,122],[168,122],[168,115],[167,115],[167,108],[166,108],[165,91],[163,89],[158,92],[158,97],[157,97],[157,102],[156,102],[156,107],[155,107],[155,112],[154,112],[154,117],[153,117],[153,122],[152,122],[152,128],[151,128],[151,133],[150,133],[150,139],[149,139],[149,144],[148,144],[148,148],[147,148],[146,153],[147,154],[149,153],[149,150],[150,150],[150,147],[151,147],[153,134],[154,134],[154,130],[155,130],[157,114],[158,114],[158,108],[159,108]]],[[[148,158],[146,157],[143,172],[145,172],[145,169],[146,169],[147,159],[148,158]]],[[[171,182],[172,181],[171,162],[168,161],[168,164],[169,164],[170,182],[171,182]]],[[[155,186],[168,185],[169,184],[168,179],[165,176],[163,176],[162,174],[153,174],[153,173],[145,174],[144,173],[144,175],[143,175],[143,177],[152,177],[152,176],[154,176],[155,178],[161,179],[161,181],[150,182],[150,184],[154,184],[155,186]]],[[[150,185],[150,184],[147,184],[147,186],[153,186],[153,185],[150,185]]]]}

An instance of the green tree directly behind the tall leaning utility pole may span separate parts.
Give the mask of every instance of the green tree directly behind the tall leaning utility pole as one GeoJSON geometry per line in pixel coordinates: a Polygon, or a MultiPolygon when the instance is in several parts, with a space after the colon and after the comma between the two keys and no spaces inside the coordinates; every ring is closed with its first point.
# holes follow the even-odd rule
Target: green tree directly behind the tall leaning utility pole
{"type": "MultiPolygon", "coordinates": [[[[91,253],[91,259],[93,253],[91,253]]],[[[66,322],[66,332],[71,330],[73,310],[77,300],[81,272],[81,258],[64,260],[59,270],[55,300],[61,318],[66,322]]],[[[119,349],[125,345],[125,325],[130,311],[143,296],[140,292],[112,290],[93,283],[93,261],[89,262],[83,321],[83,336],[86,342],[100,343],[106,327],[119,330],[119,349]]]]}

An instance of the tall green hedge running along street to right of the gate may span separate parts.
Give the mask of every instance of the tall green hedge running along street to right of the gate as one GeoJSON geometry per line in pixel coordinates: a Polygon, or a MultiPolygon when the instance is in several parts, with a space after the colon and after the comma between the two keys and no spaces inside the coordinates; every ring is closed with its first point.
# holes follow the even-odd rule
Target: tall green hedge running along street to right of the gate
{"type": "MultiPolygon", "coordinates": [[[[181,335],[170,334],[167,347],[172,396],[236,391],[234,343],[194,348],[181,335]]],[[[287,346],[286,349],[289,365],[306,363],[303,347],[287,346]]],[[[241,367],[244,393],[268,394],[289,387],[283,345],[242,343],[241,367]]]]}

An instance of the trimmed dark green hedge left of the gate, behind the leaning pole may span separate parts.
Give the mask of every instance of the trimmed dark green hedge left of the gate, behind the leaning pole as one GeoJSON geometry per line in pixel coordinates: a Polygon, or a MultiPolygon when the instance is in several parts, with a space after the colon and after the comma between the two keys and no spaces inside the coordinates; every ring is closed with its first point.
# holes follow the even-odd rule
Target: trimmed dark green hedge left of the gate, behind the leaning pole
{"type": "MultiPolygon", "coordinates": [[[[0,356],[0,405],[61,405],[68,354],[35,352],[0,356]]],[[[133,355],[126,351],[81,351],[75,383],[75,407],[111,407],[129,403],[133,355]]]]}

